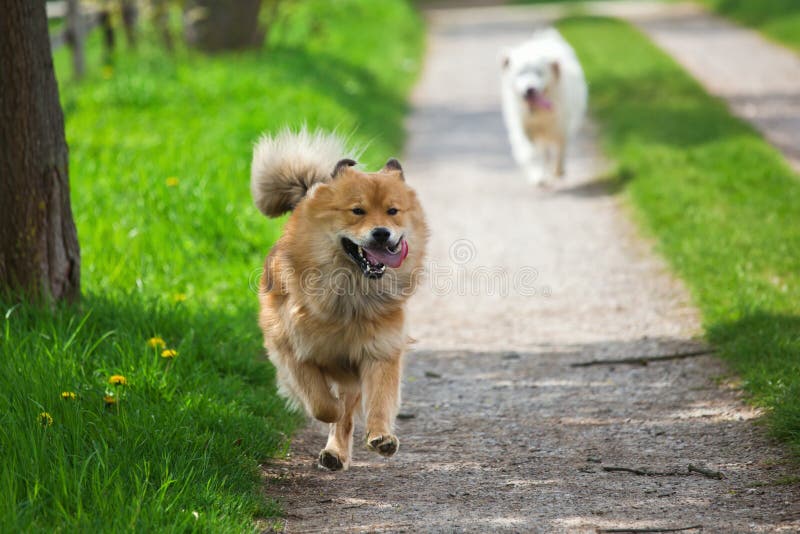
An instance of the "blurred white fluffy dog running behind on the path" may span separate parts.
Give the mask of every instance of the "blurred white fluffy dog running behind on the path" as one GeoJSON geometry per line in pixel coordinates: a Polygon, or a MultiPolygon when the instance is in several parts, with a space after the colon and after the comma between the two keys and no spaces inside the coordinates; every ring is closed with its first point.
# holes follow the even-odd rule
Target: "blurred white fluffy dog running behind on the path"
{"type": "Polygon", "coordinates": [[[575,51],[554,28],[536,32],[504,53],[502,92],[511,149],[528,179],[563,176],[588,93],[575,51]]]}

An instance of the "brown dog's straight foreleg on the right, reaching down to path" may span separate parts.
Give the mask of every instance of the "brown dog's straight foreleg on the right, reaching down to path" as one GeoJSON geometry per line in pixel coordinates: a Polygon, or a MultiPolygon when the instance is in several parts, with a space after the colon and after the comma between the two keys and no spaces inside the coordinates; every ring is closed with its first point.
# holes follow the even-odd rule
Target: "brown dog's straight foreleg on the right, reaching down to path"
{"type": "Polygon", "coordinates": [[[400,357],[374,360],[361,370],[364,409],[367,419],[367,448],[392,456],[400,442],[392,433],[392,423],[400,404],[400,357]]]}

